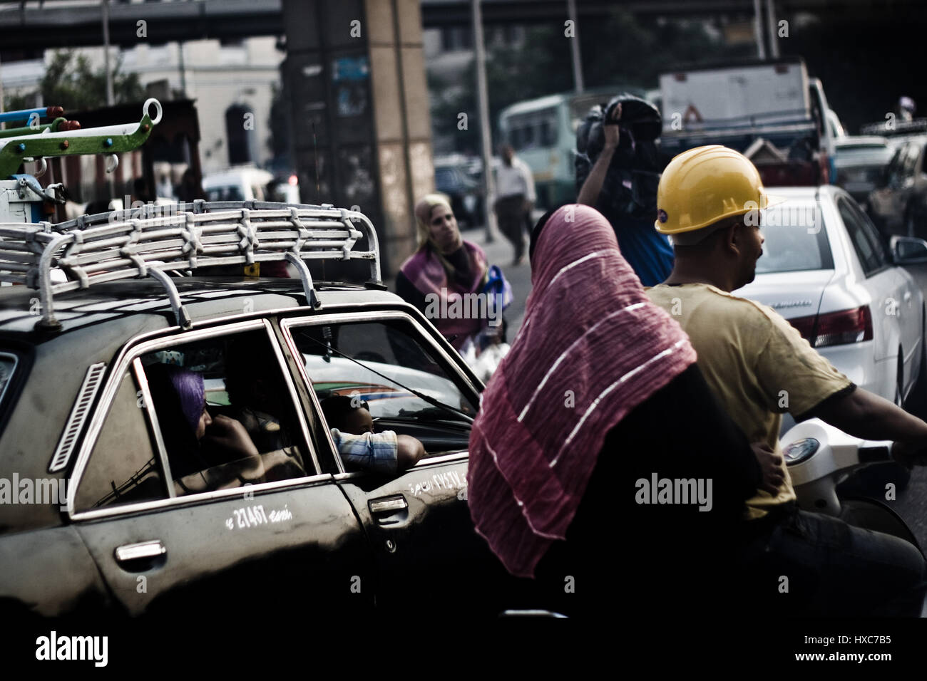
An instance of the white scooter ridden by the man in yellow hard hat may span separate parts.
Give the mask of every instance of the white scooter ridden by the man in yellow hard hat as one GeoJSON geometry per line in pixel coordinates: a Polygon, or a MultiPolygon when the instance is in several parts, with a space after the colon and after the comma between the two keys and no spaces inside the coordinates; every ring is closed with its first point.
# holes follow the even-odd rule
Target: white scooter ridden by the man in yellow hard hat
{"type": "MultiPolygon", "coordinates": [[[[796,424],[780,442],[799,508],[897,536],[923,553],[908,524],[888,504],[838,489],[853,473],[892,461],[892,442],[861,440],[819,419],[796,424]]],[[[894,498],[895,491],[886,485],[886,498],[894,498]]]]}

